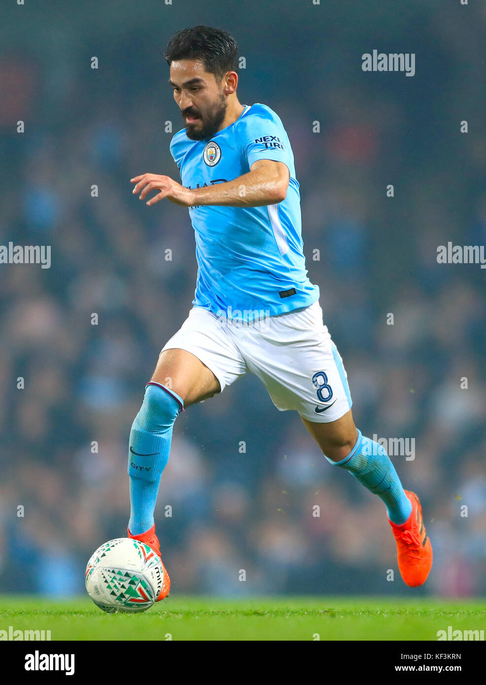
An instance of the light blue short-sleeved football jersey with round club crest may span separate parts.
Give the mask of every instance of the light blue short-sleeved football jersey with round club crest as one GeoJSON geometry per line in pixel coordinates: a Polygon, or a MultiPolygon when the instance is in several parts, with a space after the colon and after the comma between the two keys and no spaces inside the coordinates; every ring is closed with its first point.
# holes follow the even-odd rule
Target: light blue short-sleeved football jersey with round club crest
{"type": "Polygon", "coordinates": [[[186,188],[232,181],[257,160],[283,162],[290,173],[287,197],[278,204],[189,208],[199,266],[193,304],[250,321],[315,302],[319,288],[307,277],[293,153],[277,114],[247,105],[210,140],[190,140],[182,129],[171,154],[186,188]]]}

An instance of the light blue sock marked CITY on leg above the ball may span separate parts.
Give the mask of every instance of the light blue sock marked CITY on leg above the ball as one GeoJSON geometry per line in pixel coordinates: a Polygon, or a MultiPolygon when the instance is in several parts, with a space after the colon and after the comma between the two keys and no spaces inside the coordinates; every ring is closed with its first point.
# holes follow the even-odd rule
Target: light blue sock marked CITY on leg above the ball
{"type": "Polygon", "coordinates": [[[173,425],[183,409],[184,402],[172,390],[154,382],[147,385],[130,432],[128,529],[132,535],[145,533],[154,525],[158,487],[169,460],[173,425]]]}

